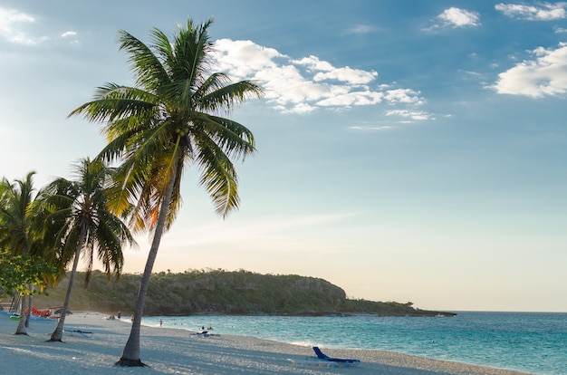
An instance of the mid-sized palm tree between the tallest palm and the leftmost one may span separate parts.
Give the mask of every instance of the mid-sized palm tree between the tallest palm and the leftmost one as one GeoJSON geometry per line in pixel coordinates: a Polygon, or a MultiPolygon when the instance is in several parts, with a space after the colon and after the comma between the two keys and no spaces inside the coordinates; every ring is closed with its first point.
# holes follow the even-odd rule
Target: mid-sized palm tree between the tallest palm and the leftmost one
{"type": "Polygon", "coordinates": [[[76,180],[57,178],[45,187],[42,199],[49,215],[44,224],[44,236],[53,238],[57,264],[62,270],[72,262],[61,316],[49,341],[62,341],[63,324],[81,255],[87,266],[86,285],[91,277],[95,253],[109,279],[112,273],[118,278],[123,265],[122,245],[134,244],[128,226],[107,207],[112,171],[101,160],[82,159],[76,165],[76,180]]]}

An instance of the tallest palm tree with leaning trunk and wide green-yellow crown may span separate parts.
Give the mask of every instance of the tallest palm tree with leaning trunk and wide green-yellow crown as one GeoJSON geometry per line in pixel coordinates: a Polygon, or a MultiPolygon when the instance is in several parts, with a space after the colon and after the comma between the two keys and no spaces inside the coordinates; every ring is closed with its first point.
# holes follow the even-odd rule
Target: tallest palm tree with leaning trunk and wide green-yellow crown
{"type": "MultiPolygon", "coordinates": [[[[164,231],[172,225],[181,203],[180,184],[186,164],[197,164],[200,184],[212,197],[216,213],[225,217],[239,204],[237,176],[231,158],[245,159],[255,151],[253,134],[234,120],[220,117],[262,89],[255,82],[232,83],[212,67],[207,29],[187,21],[170,41],[158,29],[147,46],[120,31],[120,50],[130,55],[134,87],[106,83],[93,101],[72,111],[87,120],[105,122],[109,144],[99,158],[120,162],[121,194],[117,212],[133,204],[131,225],[153,232],[121,366],[145,366],[139,357],[140,323],[149,278],[164,231]]],[[[71,116],[70,115],[70,116],[71,116]]]]}

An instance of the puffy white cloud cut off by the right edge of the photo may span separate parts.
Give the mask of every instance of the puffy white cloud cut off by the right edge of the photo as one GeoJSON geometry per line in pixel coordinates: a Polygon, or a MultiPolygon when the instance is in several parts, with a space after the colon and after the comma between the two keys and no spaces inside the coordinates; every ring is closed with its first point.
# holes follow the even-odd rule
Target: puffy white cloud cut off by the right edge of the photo
{"type": "Polygon", "coordinates": [[[532,98],[560,95],[567,91],[567,43],[556,49],[539,47],[532,51],[533,60],[517,63],[498,74],[492,88],[501,94],[532,98]]]}

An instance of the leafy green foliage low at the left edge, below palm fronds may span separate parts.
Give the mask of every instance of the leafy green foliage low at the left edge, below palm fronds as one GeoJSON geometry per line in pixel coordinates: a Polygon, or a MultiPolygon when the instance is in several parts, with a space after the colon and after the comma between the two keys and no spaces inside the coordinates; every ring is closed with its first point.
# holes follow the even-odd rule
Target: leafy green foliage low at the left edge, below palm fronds
{"type": "Polygon", "coordinates": [[[56,274],[57,269],[46,264],[41,258],[29,255],[12,255],[8,251],[0,251],[0,285],[8,295],[14,293],[27,295],[29,284],[44,286],[46,275],[56,274]]]}

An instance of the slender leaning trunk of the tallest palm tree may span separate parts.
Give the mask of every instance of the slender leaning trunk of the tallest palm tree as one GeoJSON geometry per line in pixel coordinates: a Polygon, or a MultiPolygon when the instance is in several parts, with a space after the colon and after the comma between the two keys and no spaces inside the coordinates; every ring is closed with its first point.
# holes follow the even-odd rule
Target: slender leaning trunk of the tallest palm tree
{"type": "Polygon", "coordinates": [[[139,285],[138,299],[136,300],[136,309],[134,311],[134,321],[132,322],[132,328],[130,330],[130,337],[126,341],[126,346],[122,351],[122,356],[120,360],[114,363],[117,366],[128,366],[128,367],[144,367],[146,366],[139,359],[139,337],[140,337],[140,326],[141,318],[144,313],[144,303],[146,302],[146,293],[148,293],[149,278],[151,276],[151,270],[153,269],[154,262],[158,256],[159,242],[161,241],[161,236],[163,235],[163,230],[166,224],[166,216],[168,215],[169,201],[171,200],[171,195],[173,193],[173,184],[175,181],[175,176],[172,176],[168,183],[166,189],[166,195],[161,202],[161,207],[159,207],[158,223],[156,224],[156,230],[154,232],[154,237],[151,241],[151,247],[149,248],[148,260],[146,261],[146,267],[144,268],[144,274],[142,275],[141,284],[139,285]]]}

